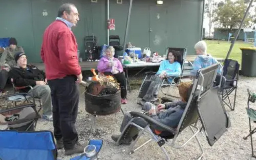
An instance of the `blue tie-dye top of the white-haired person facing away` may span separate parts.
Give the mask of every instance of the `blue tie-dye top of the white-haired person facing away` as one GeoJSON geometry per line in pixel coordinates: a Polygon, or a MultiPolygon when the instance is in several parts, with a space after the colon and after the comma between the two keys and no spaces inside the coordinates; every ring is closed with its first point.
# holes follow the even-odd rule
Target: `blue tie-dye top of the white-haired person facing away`
{"type": "MultiPolygon", "coordinates": [[[[196,75],[197,70],[206,68],[216,63],[218,63],[218,61],[211,55],[199,55],[194,60],[193,70],[191,71],[191,74],[196,75]]],[[[218,69],[218,74],[221,74],[221,68],[218,69]]]]}

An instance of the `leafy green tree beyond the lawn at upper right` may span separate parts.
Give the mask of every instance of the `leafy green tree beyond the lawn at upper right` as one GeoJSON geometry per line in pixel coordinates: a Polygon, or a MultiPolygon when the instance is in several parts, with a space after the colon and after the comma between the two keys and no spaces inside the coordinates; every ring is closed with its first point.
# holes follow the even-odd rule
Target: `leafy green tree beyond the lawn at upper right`
{"type": "MultiPolygon", "coordinates": [[[[246,8],[247,6],[244,0],[238,0],[236,2],[231,2],[228,0],[226,3],[222,2],[216,9],[216,17],[214,18],[214,22],[217,22],[220,27],[227,28],[229,31],[231,31],[232,28],[240,25],[246,8]]],[[[244,20],[243,27],[249,26],[249,22],[252,21],[249,16],[247,17],[248,18],[244,20]]]]}

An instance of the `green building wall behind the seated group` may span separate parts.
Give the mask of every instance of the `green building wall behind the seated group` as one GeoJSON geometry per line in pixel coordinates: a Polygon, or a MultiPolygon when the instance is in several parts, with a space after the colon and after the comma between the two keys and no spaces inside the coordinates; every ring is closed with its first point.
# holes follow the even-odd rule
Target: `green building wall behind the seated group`
{"type": "MultiPolygon", "coordinates": [[[[29,62],[42,62],[40,46],[45,28],[55,20],[58,7],[71,2],[78,8],[80,21],[72,29],[80,55],[84,54],[84,36],[95,35],[98,46],[107,43],[106,0],[0,0],[0,37],[15,37],[23,46],[29,62]],[[43,16],[47,12],[47,16],[43,16]]],[[[119,35],[123,45],[126,19],[130,0],[116,4],[110,0],[110,18],[115,19],[116,30],[110,35],[119,35]]],[[[134,0],[127,42],[151,51],[165,54],[166,47],[187,48],[194,54],[194,44],[200,40],[201,0],[134,0]],[[149,32],[149,30],[152,32],[149,32]]]]}

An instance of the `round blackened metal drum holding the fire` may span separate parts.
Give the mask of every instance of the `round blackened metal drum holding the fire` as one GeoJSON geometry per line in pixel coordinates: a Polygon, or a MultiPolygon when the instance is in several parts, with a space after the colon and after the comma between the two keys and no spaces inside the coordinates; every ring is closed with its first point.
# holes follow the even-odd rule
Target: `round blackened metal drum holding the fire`
{"type": "Polygon", "coordinates": [[[121,109],[120,90],[118,90],[116,94],[108,94],[105,96],[95,96],[84,92],[84,97],[85,110],[93,115],[106,116],[119,112],[121,109]]]}

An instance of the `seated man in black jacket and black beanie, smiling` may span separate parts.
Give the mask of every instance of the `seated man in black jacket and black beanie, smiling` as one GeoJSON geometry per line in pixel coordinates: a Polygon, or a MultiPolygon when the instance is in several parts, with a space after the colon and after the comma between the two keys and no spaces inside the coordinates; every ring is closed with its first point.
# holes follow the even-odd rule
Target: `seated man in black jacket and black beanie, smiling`
{"type": "Polygon", "coordinates": [[[14,56],[17,66],[10,71],[10,77],[13,78],[15,86],[32,86],[22,89],[22,92],[28,92],[28,95],[40,98],[42,100],[42,118],[52,121],[52,99],[51,90],[47,85],[47,79],[44,72],[33,65],[27,64],[26,55],[18,52],[14,56]]]}

